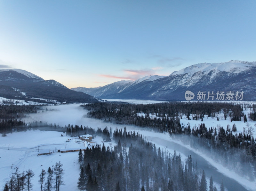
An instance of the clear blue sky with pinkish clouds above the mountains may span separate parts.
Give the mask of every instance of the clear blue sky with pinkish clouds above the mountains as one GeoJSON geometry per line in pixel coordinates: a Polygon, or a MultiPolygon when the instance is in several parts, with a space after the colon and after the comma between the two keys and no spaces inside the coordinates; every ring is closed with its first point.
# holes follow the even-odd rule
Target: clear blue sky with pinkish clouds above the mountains
{"type": "Polygon", "coordinates": [[[0,0],[0,68],[71,88],[256,61],[255,10],[255,0],[0,0]]]}

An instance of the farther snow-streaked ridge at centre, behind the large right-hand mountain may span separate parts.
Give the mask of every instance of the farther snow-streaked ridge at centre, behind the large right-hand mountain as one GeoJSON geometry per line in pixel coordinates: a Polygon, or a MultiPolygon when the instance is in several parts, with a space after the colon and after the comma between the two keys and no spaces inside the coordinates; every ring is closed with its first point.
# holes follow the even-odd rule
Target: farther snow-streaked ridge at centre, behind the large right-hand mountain
{"type": "Polygon", "coordinates": [[[71,88],[71,90],[79,91],[79,92],[88,92],[89,95],[92,95],[94,97],[105,97],[110,96],[112,94],[118,94],[123,91],[125,91],[127,88],[131,88],[134,85],[140,84],[141,82],[150,82],[154,81],[160,78],[163,78],[165,76],[145,76],[142,78],[139,78],[137,80],[121,80],[118,82],[114,82],[112,84],[108,84],[102,87],[97,87],[88,90],[89,88],[71,88]]]}

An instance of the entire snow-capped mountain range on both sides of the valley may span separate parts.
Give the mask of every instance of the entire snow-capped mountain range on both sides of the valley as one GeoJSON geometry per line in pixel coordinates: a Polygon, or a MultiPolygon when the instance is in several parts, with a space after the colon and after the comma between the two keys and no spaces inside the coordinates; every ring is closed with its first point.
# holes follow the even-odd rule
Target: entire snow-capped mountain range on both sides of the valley
{"type": "Polygon", "coordinates": [[[0,70],[0,97],[47,103],[51,100],[97,102],[99,98],[184,101],[185,92],[190,91],[194,94],[192,100],[198,98],[199,92],[205,92],[205,100],[208,92],[213,93],[214,100],[217,100],[218,92],[224,92],[226,97],[223,100],[228,98],[228,92],[233,92],[233,99],[236,92],[239,96],[243,92],[243,100],[255,101],[255,79],[256,62],[229,61],[194,64],[169,76],[146,76],[103,87],[68,89],[55,80],[44,80],[25,70],[7,69],[0,70]]]}

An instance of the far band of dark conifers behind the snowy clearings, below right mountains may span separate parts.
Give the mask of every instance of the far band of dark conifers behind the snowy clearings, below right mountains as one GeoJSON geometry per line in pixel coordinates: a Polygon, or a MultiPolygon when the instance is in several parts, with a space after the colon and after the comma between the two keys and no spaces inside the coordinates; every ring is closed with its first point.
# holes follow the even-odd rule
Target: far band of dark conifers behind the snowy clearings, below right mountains
{"type": "MultiPolygon", "coordinates": [[[[91,103],[82,105],[89,110],[89,116],[97,119],[115,120],[122,122],[127,118],[135,117],[138,113],[156,114],[156,117],[167,115],[168,117],[178,117],[180,114],[196,114],[213,116],[215,113],[224,110],[224,113],[231,113],[233,117],[242,115],[243,107],[233,103],[222,102],[169,102],[155,104],[128,104],[128,103],[91,103]],[[112,118],[112,119],[111,119],[112,118]]],[[[250,106],[248,106],[250,107],[250,106]]]]}

